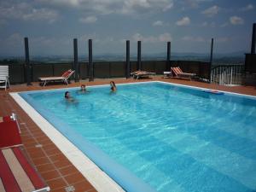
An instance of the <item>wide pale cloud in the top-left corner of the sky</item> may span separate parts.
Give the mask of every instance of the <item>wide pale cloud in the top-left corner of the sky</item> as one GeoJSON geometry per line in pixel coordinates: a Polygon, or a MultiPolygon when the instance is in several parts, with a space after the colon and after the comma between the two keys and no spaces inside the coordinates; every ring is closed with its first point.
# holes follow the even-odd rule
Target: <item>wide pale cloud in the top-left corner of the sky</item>
{"type": "Polygon", "coordinates": [[[6,20],[46,20],[53,23],[58,19],[58,12],[53,9],[34,8],[31,3],[0,3],[0,17],[6,20]]]}

